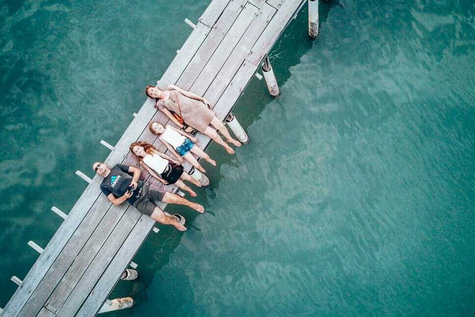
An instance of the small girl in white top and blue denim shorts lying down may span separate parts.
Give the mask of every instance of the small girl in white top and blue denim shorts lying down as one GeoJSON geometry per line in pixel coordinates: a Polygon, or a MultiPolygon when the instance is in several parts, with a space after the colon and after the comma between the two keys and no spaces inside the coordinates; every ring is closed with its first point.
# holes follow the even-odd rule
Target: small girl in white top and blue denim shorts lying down
{"type": "Polygon", "coordinates": [[[216,162],[203,151],[200,147],[195,146],[200,142],[200,139],[194,138],[185,131],[179,130],[169,124],[163,127],[160,123],[152,121],[149,124],[149,129],[153,134],[158,134],[161,142],[172,152],[180,163],[184,162],[184,159],[191,163],[202,173],[206,173],[205,169],[195,159],[193,154],[198,157],[204,158],[211,165],[216,166],[216,162]],[[193,153],[193,154],[191,154],[193,153]]]}

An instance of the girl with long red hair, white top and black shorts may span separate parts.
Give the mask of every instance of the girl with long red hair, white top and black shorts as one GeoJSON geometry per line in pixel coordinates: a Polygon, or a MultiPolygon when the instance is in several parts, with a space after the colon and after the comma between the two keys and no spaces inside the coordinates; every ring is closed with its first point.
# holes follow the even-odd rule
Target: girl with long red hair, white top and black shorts
{"type": "Polygon", "coordinates": [[[134,142],[130,148],[140,165],[153,177],[165,185],[175,184],[190,193],[192,197],[196,197],[196,193],[186,186],[183,180],[187,180],[198,187],[201,187],[201,183],[188,173],[184,173],[183,166],[180,165],[179,161],[174,161],[168,155],[158,152],[155,146],[147,142],[134,142]]]}

